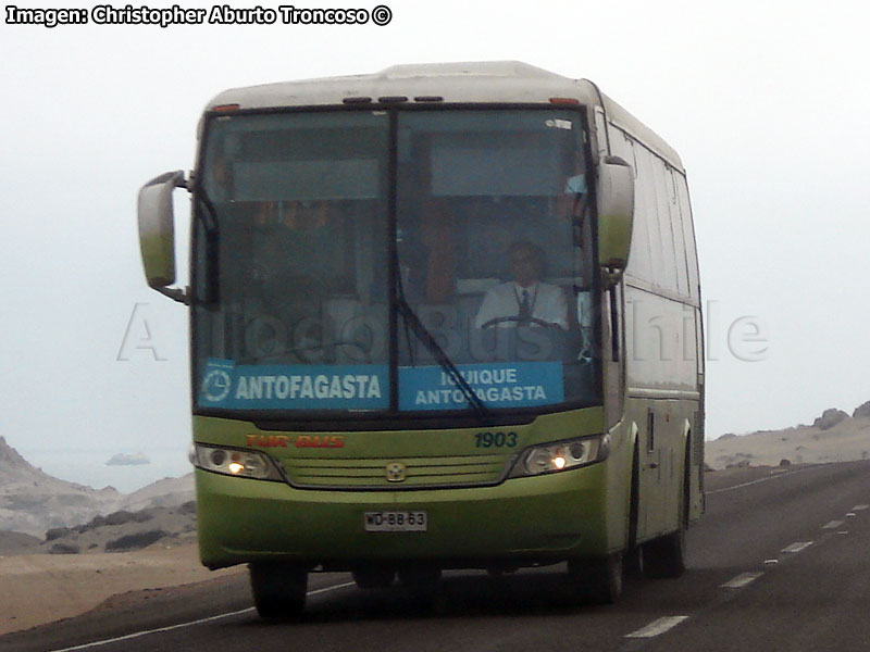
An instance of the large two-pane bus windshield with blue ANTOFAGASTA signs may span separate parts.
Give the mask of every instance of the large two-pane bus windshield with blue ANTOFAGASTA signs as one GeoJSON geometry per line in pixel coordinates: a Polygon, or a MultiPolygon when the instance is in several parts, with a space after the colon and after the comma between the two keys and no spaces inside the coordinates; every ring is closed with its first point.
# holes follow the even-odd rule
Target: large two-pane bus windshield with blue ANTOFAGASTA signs
{"type": "Polygon", "coordinates": [[[581,115],[210,117],[198,409],[431,415],[468,410],[470,391],[493,412],[600,404],[581,115]]]}

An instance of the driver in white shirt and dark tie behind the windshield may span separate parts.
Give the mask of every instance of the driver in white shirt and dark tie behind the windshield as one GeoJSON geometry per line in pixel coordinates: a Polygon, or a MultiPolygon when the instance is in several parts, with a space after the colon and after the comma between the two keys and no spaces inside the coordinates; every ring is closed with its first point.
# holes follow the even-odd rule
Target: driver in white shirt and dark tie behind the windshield
{"type": "Polygon", "coordinates": [[[561,288],[539,280],[544,258],[527,240],[508,248],[513,280],[490,288],[483,298],[474,325],[513,327],[559,326],[568,330],[568,303],[561,288]]]}

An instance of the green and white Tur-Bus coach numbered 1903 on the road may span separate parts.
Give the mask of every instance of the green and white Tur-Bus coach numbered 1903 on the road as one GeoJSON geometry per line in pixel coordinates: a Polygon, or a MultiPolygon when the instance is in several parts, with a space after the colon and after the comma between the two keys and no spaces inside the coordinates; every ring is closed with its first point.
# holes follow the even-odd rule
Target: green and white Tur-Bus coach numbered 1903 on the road
{"type": "Polygon", "coordinates": [[[684,570],[686,175],[592,82],[486,62],[228,90],[138,220],[149,286],[190,311],[201,561],[248,564],[261,616],[298,616],[313,572],[431,594],[446,569],[559,565],[608,603],[629,566],[684,570]]]}

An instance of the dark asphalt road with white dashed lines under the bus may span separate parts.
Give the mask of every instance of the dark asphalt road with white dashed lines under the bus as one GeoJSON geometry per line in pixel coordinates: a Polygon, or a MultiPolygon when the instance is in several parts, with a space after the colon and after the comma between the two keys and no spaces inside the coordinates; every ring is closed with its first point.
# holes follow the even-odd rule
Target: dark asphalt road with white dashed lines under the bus
{"type": "Polygon", "coordinates": [[[238,576],[119,599],[0,650],[870,650],[870,462],[707,477],[686,574],[629,577],[616,605],[568,606],[558,566],[447,574],[428,609],[315,575],[302,620],[270,624],[238,576]]]}

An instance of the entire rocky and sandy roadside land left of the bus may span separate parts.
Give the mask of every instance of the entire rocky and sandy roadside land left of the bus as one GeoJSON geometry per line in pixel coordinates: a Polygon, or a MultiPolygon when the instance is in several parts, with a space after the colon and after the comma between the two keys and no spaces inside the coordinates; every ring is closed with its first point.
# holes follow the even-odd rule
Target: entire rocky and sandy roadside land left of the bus
{"type": "Polygon", "coordinates": [[[191,475],[127,496],[65,482],[0,438],[0,635],[239,573],[200,564],[192,498],[191,475]]]}

